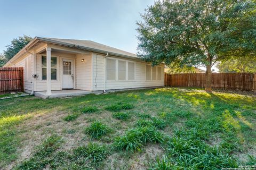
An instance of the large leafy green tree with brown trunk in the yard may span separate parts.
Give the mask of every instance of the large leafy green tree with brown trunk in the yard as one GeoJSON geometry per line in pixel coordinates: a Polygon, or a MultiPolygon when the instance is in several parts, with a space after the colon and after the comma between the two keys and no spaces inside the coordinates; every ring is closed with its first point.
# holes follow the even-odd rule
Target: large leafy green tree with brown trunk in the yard
{"type": "Polygon", "coordinates": [[[211,91],[216,61],[255,56],[255,1],[156,1],[141,17],[138,56],[153,65],[177,60],[181,65],[204,64],[206,91],[211,91]]]}

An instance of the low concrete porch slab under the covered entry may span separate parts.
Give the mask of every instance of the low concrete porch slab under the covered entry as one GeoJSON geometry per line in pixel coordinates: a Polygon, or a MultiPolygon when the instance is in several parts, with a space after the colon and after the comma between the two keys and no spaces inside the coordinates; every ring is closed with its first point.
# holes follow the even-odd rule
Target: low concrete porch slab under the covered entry
{"type": "Polygon", "coordinates": [[[54,90],[51,91],[51,95],[47,94],[47,91],[36,91],[35,96],[41,98],[57,98],[57,97],[68,97],[68,96],[81,96],[81,95],[88,95],[91,94],[91,91],[86,90],[54,90]]]}

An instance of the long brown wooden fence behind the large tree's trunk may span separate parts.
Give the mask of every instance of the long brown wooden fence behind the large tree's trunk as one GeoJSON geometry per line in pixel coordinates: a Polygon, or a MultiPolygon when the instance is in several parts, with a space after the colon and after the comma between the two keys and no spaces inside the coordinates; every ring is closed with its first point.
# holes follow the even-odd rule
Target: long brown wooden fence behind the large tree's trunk
{"type": "MultiPolygon", "coordinates": [[[[165,73],[165,86],[204,88],[205,73],[165,73]]],[[[218,90],[256,91],[255,73],[212,73],[212,88],[218,90]]]]}

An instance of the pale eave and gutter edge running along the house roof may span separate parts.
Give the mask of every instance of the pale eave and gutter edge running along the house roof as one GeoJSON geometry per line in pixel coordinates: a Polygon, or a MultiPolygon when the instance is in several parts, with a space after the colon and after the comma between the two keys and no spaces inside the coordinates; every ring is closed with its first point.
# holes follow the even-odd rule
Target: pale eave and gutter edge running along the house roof
{"type": "Polygon", "coordinates": [[[35,37],[25,47],[23,47],[14,57],[12,57],[11,60],[8,61],[4,65],[4,67],[7,67],[13,61],[17,60],[23,54],[27,53],[26,50],[31,50],[31,49],[35,48],[40,43],[49,43],[49,44],[55,44],[55,45],[60,45],[60,46],[76,48],[76,49],[82,49],[82,50],[85,50],[87,52],[97,52],[97,53],[101,53],[101,54],[107,54],[108,53],[109,55],[113,55],[113,56],[130,58],[132,60],[142,61],[140,58],[138,58],[135,54],[132,54],[132,53],[131,53],[131,55],[124,55],[124,54],[119,54],[119,53],[115,53],[115,52],[110,52],[108,50],[102,50],[102,49],[99,49],[99,48],[92,48],[92,47],[86,47],[86,46],[71,44],[71,43],[65,43],[65,42],[50,39],[50,38],[35,37]]]}

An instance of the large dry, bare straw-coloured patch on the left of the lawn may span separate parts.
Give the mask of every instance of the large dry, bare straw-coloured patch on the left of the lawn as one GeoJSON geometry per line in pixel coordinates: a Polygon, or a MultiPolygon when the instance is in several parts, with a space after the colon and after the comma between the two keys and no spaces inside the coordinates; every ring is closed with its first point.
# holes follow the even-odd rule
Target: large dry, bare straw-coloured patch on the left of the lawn
{"type": "MultiPolygon", "coordinates": [[[[87,125],[85,122],[66,122],[63,121],[63,117],[67,113],[52,111],[50,113],[34,114],[34,117],[29,118],[24,123],[18,125],[19,131],[21,131],[21,145],[17,148],[19,155],[15,162],[12,162],[7,169],[12,169],[15,165],[18,165],[23,160],[29,158],[35,147],[41,145],[42,141],[49,137],[51,134],[61,135],[65,141],[61,150],[70,150],[81,145],[81,140],[84,136],[82,132],[87,125]],[[67,133],[65,130],[74,129],[74,133],[67,133]]],[[[83,141],[83,145],[87,142],[83,141]]]]}

